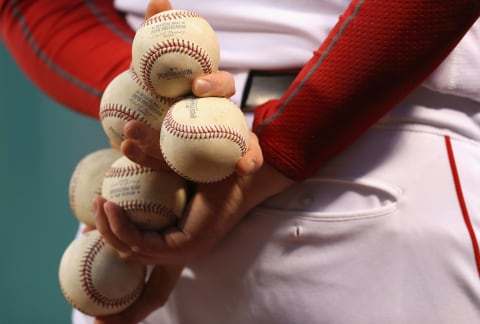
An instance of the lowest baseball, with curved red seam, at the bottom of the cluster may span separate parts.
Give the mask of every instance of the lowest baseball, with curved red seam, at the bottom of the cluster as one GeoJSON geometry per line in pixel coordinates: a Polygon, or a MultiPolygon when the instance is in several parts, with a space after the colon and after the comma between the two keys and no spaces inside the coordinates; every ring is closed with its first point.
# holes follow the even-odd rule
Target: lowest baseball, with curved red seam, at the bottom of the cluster
{"type": "Polygon", "coordinates": [[[91,316],[111,315],[130,306],[145,284],[146,268],[120,258],[96,230],[73,240],[59,266],[67,301],[91,316]]]}

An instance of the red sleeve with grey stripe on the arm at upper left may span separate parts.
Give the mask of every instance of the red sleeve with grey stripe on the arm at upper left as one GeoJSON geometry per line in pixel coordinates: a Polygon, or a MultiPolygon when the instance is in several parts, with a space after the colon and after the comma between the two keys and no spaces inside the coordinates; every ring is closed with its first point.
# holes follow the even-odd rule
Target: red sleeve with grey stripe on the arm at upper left
{"type": "Polygon", "coordinates": [[[103,90],[131,61],[134,32],[113,0],[0,0],[0,32],[42,91],[94,118],[103,90]]]}

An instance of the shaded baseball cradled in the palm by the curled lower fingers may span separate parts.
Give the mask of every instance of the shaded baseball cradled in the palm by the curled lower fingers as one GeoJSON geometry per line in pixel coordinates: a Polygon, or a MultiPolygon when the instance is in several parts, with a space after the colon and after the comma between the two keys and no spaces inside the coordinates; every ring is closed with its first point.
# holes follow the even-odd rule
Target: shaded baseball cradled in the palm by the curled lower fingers
{"type": "Polygon", "coordinates": [[[160,230],[181,217],[187,182],[170,170],[146,168],[123,156],[106,171],[102,196],[122,207],[139,228],[160,230]]]}

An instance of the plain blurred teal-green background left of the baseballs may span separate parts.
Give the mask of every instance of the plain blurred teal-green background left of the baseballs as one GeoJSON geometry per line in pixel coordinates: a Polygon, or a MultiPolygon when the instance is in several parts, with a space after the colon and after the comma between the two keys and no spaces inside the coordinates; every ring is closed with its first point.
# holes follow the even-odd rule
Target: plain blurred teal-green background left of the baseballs
{"type": "Polygon", "coordinates": [[[108,147],[98,121],[40,92],[0,42],[0,323],[68,324],[58,264],[77,221],[70,176],[108,147]]]}

